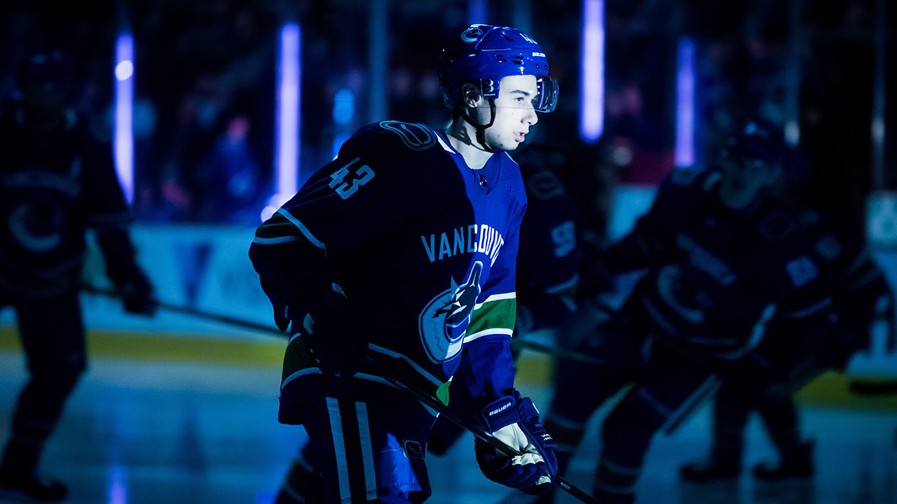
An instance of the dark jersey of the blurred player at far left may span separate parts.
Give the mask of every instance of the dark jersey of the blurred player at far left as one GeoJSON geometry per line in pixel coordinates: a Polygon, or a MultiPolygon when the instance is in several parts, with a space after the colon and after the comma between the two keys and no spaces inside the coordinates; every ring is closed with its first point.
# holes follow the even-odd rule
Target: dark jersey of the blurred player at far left
{"type": "Polygon", "coordinates": [[[7,104],[0,120],[0,298],[76,290],[84,231],[91,227],[113,238],[100,243],[114,242],[116,253],[107,254],[110,276],[118,270],[126,275],[134,255],[125,234],[131,216],[111,146],[91,135],[74,112],[63,127],[46,133],[26,128],[22,114],[7,104]]]}

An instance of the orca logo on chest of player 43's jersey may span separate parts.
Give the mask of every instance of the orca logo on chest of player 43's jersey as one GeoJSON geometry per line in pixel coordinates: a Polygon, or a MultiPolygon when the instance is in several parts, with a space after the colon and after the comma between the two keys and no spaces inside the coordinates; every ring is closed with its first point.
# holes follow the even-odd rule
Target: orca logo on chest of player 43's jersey
{"type": "Polygon", "coordinates": [[[464,343],[464,335],[470,324],[470,314],[474,312],[480,295],[480,276],[483,263],[476,261],[471,266],[467,280],[440,292],[423,307],[417,319],[421,343],[427,356],[435,363],[450,361],[464,343]]]}

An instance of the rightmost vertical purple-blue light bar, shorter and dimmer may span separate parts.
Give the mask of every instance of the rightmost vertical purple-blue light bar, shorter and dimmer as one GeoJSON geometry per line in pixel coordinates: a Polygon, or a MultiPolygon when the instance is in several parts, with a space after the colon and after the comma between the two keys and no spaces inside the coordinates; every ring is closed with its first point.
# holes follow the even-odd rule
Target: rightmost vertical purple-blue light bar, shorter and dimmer
{"type": "Polygon", "coordinates": [[[679,40],[676,66],[675,165],[694,164],[694,40],[679,40]]]}

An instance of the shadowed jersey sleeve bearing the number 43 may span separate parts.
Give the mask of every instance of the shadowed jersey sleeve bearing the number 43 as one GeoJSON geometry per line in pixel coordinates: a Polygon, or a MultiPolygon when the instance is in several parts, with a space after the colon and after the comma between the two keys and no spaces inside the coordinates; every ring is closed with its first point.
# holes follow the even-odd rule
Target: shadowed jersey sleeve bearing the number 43
{"type": "Polygon", "coordinates": [[[390,135],[376,126],[362,128],[256,230],[249,258],[278,326],[288,303],[316,295],[321,282],[339,282],[340,272],[328,270],[327,256],[391,228],[411,212],[414,195],[403,188],[397,167],[414,160],[390,135]]]}

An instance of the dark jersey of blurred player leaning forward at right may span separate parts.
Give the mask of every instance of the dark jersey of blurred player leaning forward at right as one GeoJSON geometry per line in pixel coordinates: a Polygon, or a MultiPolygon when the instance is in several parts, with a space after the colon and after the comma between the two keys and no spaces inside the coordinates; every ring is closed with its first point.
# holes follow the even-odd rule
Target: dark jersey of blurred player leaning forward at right
{"type": "Polygon", "coordinates": [[[816,317],[831,305],[832,244],[771,198],[720,204],[719,174],[676,170],[635,229],[605,253],[615,272],[648,268],[624,310],[689,352],[736,359],[774,317],[816,317]]]}

